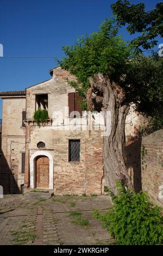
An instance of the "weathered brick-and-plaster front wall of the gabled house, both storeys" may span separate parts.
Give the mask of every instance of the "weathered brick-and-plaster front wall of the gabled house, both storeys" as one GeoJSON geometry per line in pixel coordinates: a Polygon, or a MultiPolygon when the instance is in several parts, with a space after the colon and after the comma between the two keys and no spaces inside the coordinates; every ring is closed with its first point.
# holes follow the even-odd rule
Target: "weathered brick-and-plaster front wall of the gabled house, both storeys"
{"type": "Polygon", "coordinates": [[[73,79],[67,71],[57,68],[51,80],[27,89],[25,185],[29,186],[30,157],[38,150],[37,143],[42,141],[46,145],[43,150],[54,160],[55,194],[101,194],[103,137],[101,131],[87,130],[85,117],[68,118],[68,93],[74,89],[68,86],[67,78],[73,79]],[[42,92],[48,94],[48,114],[53,123],[37,126],[32,122],[35,95],[42,92]],[[69,126],[67,121],[70,121],[69,126]],[[80,162],[68,161],[68,139],[80,139],[80,162]]]}

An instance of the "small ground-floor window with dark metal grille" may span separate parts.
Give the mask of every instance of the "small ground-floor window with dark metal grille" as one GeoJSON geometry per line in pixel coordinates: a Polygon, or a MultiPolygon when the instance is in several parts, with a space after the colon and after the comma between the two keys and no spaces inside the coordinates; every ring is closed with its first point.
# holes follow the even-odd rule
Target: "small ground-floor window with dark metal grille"
{"type": "Polygon", "coordinates": [[[69,139],[69,162],[80,161],[80,139],[69,139]]]}

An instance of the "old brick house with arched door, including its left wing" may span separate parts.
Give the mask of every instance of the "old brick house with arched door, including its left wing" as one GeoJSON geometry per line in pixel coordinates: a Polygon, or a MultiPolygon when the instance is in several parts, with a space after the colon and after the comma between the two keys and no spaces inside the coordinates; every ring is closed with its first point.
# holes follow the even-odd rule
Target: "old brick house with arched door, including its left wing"
{"type": "MultiPolygon", "coordinates": [[[[87,125],[78,95],[67,83],[67,78],[74,78],[60,67],[50,73],[50,80],[26,90],[0,93],[3,99],[0,180],[4,193],[40,188],[55,194],[101,194],[103,121],[87,125]],[[49,118],[43,124],[34,121],[37,109],[48,111],[49,118]]],[[[137,115],[129,114],[127,136],[134,131],[136,122],[137,115]]]]}

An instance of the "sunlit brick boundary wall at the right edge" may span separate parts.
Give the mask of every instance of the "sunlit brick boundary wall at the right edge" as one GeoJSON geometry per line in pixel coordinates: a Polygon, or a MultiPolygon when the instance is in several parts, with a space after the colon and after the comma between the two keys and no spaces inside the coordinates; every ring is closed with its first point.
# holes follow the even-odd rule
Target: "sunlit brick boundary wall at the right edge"
{"type": "Polygon", "coordinates": [[[159,186],[163,185],[163,130],[142,138],[142,190],[153,202],[163,205],[159,186]]]}

